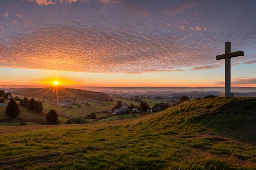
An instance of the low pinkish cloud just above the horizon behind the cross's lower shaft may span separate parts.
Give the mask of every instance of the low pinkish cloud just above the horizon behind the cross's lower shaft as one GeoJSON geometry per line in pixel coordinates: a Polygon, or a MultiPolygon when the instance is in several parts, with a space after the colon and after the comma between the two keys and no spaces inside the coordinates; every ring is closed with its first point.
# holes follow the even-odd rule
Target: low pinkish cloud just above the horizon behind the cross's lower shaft
{"type": "MultiPolygon", "coordinates": [[[[224,85],[225,81],[216,82],[216,85],[224,85]]],[[[255,77],[236,77],[231,78],[231,85],[239,86],[256,86],[256,78],[255,77]]]]}

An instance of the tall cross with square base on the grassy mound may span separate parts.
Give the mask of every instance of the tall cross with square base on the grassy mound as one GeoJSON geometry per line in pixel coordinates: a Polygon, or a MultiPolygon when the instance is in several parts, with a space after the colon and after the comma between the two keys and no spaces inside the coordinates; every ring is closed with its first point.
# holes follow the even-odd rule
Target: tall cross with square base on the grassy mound
{"type": "Polygon", "coordinates": [[[231,53],[231,42],[225,43],[225,54],[216,55],[216,60],[225,59],[225,93],[220,93],[220,97],[234,97],[234,93],[230,93],[230,85],[231,85],[230,58],[244,56],[244,55],[245,55],[245,52],[243,51],[236,51],[231,53]]]}

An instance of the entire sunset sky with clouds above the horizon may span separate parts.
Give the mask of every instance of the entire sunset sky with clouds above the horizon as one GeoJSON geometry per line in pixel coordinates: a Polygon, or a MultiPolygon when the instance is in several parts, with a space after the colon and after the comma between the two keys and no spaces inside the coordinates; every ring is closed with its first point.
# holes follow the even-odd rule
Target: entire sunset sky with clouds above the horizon
{"type": "Polygon", "coordinates": [[[0,86],[256,87],[254,0],[1,0],[0,86]]]}

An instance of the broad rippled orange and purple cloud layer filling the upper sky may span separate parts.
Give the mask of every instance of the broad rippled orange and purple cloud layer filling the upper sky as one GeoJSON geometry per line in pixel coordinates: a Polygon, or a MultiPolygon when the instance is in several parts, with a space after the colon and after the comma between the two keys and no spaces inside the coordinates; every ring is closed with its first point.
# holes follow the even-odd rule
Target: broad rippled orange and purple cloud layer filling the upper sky
{"type": "MultiPolygon", "coordinates": [[[[231,41],[232,51],[256,48],[256,11],[249,2],[238,12],[228,2],[0,3],[0,67],[91,73],[202,70],[223,66],[215,56],[224,53],[225,41],[231,41]],[[218,5],[222,17],[213,15],[218,5]]],[[[232,61],[252,64],[255,54],[232,61]]]]}

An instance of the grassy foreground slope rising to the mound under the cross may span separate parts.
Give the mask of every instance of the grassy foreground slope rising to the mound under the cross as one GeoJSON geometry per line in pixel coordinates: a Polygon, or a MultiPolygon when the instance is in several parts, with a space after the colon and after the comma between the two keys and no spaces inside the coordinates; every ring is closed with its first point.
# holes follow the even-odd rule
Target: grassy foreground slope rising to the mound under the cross
{"type": "Polygon", "coordinates": [[[216,97],[136,119],[0,127],[0,168],[255,170],[255,122],[255,97],[216,97]]]}

